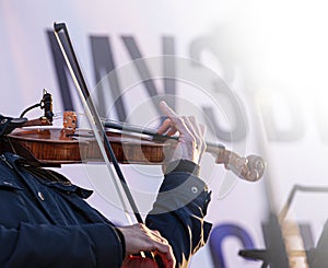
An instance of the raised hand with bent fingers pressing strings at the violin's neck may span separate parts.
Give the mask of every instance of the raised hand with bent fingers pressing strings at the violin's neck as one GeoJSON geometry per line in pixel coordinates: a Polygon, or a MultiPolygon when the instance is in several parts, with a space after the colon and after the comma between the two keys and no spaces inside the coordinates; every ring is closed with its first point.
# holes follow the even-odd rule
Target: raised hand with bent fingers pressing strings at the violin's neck
{"type": "Polygon", "coordinates": [[[157,133],[173,136],[179,132],[178,143],[171,156],[171,161],[189,160],[199,164],[206,151],[206,127],[198,124],[195,116],[178,116],[165,102],[160,103],[164,115],[168,118],[159,128],[157,133]]]}

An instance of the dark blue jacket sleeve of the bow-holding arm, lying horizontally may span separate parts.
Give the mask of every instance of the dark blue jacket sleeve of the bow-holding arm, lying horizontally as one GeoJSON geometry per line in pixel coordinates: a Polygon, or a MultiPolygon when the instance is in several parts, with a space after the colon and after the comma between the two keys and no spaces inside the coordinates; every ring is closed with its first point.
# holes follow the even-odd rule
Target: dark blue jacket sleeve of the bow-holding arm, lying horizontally
{"type": "Polygon", "coordinates": [[[0,247],[1,267],[120,267],[122,260],[119,235],[103,223],[0,225],[0,247]]]}

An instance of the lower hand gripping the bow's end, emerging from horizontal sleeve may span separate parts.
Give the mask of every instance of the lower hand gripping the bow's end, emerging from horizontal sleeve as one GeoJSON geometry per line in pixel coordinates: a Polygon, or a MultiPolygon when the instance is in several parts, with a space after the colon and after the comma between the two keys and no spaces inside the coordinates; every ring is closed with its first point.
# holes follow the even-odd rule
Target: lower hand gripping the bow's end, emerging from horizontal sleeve
{"type": "Polygon", "coordinates": [[[155,261],[152,259],[130,257],[130,255],[140,252],[151,252],[154,255],[159,255],[163,260],[165,268],[175,267],[175,257],[172,247],[159,231],[150,230],[141,223],[119,228],[119,231],[125,236],[126,242],[126,259],[124,261],[124,267],[156,267],[152,266],[155,265],[155,261]],[[141,264],[141,266],[138,266],[139,264],[141,264]]]}

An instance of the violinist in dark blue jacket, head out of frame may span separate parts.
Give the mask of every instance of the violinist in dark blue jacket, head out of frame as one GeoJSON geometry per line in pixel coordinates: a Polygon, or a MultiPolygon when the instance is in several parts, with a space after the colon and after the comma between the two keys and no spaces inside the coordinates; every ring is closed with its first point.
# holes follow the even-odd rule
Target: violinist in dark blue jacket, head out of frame
{"type": "Polygon", "coordinates": [[[203,220],[210,193],[198,177],[204,128],[160,106],[167,119],[159,133],[178,132],[179,140],[145,225],[115,226],[84,201],[92,191],[0,143],[0,267],[157,267],[132,256],[140,252],[165,267],[188,266],[211,229],[203,220]]]}

